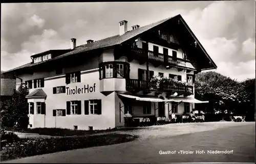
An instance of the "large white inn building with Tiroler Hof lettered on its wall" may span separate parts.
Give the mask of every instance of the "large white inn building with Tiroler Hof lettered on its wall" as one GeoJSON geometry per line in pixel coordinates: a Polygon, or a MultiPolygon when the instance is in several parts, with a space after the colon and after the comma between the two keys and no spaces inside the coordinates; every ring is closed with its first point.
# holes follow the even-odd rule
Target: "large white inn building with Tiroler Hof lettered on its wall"
{"type": "Polygon", "coordinates": [[[106,129],[131,117],[154,124],[202,103],[194,98],[195,75],[217,66],[181,15],[131,31],[125,20],[116,25],[116,36],[80,46],[72,38],[71,49],[34,54],[4,72],[29,89],[30,127],[106,129]],[[155,76],[181,82],[159,84],[155,76]]]}

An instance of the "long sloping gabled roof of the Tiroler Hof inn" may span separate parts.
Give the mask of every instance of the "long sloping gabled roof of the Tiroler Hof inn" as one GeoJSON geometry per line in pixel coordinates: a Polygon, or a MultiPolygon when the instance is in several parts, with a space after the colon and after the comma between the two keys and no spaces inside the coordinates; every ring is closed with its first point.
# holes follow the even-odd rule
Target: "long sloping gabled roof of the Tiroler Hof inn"
{"type": "MultiPolygon", "coordinates": [[[[198,41],[196,36],[191,32],[191,30],[188,28],[188,25],[185,23],[184,19],[179,14],[179,15],[176,15],[174,17],[170,17],[170,18],[163,19],[163,20],[160,20],[160,21],[152,23],[152,24],[148,24],[148,25],[142,26],[142,27],[140,27],[138,29],[126,32],[123,35],[116,35],[116,36],[112,36],[112,37],[109,37],[109,38],[105,38],[105,39],[102,39],[102,40],[98,40],[98,41],[92,42],[90,44],[84,44],[84,45],[77,46],[76,48],[74,48],[70,52],[61,54],[60,56],[57,56],[57,57],[52,58],[50,60],[46,60],[46,61],[42,61],[42,62],[38,62],[38,63],[25,64],[23,66],[19,66],[17,68],[14,68],[14,69],[11,69],[11,70],[8,70],[8,71],[5,71],[5,72],[10,72],[10,71],[21,69],[21,68],[35,66],[35,65],[38,65],[38,64],[41,64],[41,63],[55,61],[55,60],[58,60],[58,59],[61,59],[61,58],[65,58],[65,57],[71,56],[73,54],[81,53],[81,52],[86,52],[86,51],[90,51],[90,50],[94,50],[94,49],[115,46],[115,45],[121,44],[121,43],[123,43],[123,42],[125,42],[125,41],[127,41],[129,39],[132,39],[132,38],[134,38],[134,37],[136,37],[136,36],[146,32],[146,31],[156,27],[157,25],[162,24],[163,22],[166,22],[167,20],[173,19],[175,17],[178,17],[178,18],[182,19],[182,22],[184,23],[184,25],[188,29],[189,33],[196,39],[196,41],[198,42],[200,47],[203,49],[203,46],[201,45],[201,43],[198,41]]],[[[210,57],[207,54],[207,52],[204,49],[203,49],[203,51],[206,54],[207,58],[211,61],[211,63],[214,64],[214,66],[217,68],[216,64],[210,59],[210,57]]]]}

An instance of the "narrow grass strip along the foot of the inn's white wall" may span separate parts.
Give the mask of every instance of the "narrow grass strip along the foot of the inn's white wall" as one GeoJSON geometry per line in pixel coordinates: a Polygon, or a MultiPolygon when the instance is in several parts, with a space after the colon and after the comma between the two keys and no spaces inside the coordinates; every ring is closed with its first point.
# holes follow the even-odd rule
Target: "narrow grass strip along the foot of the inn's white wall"
{"type": "Polygon", "coordinates": [[[51,135],[51,136],[74,136],[74,135],[88,135],[101,132],[110,131],[125,131],[133,130],[139,128],[125,128],[125,129],[105,129],[105,130],[72,130],[72,129],[62,129],[62,128],[33,128],[33,129],[19,129],[19,128],[7,128],[8,131],[22,132],[22,133],[37,133],[39,135],[51,135]]]}

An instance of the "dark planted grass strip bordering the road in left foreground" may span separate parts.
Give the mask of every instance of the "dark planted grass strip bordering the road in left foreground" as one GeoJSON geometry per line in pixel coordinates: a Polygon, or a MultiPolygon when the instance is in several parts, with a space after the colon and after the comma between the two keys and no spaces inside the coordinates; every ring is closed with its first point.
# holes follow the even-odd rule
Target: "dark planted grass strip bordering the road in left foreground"
{"type": "Polygon", "coordinates": [[[1,141],[1,160],[23,158],[27,156],[49,154],[59,151],[113,145],[129,142],[138,136],[129,134],[104,134],[71,136],[69,138],[18,139],[16,142],[1,141]]]}

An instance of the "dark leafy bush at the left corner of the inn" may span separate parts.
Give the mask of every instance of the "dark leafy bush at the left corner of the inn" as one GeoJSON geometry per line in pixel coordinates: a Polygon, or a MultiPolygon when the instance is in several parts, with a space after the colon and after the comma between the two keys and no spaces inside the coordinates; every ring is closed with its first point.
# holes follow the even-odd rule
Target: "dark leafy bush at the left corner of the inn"
{"type": "Polygon", "coordinates": [[[19,127],[28,127],[28,93],[28,89],[21,85],[14,90],[11,100],[1,102],[1,127],[12,127],[16,123],[19,127]]]}

